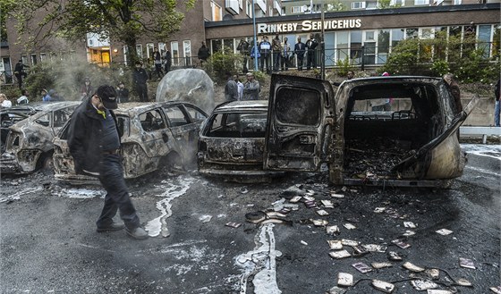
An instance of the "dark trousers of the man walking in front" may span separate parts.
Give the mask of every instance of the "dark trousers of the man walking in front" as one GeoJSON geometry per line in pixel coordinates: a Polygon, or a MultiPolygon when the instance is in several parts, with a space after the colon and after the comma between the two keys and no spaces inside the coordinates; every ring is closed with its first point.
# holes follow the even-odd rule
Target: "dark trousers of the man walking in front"
{"type": "Polygon", "coordinates": [[[99,227],[106,227],[113,223],[116,211],[120,211],[120,218],[128,229],[140,226],[140,218],[132,205],[129,189],[123,179],[123,167],[120,155],[103,155],[99,163],[99,181],[106,189],[105,206],[96,223],[99,227]]]}

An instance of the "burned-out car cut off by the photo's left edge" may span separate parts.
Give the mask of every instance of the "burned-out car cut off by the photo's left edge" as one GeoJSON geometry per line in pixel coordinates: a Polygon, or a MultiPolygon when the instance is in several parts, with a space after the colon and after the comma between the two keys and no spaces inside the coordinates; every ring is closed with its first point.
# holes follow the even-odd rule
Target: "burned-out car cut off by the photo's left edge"
{"type": "Polygon", "coordinates": [[[78,105],[78,102],[40,102],[2,109],[1,172],[23,174],[50,166],[52,140],[78,105]]]}

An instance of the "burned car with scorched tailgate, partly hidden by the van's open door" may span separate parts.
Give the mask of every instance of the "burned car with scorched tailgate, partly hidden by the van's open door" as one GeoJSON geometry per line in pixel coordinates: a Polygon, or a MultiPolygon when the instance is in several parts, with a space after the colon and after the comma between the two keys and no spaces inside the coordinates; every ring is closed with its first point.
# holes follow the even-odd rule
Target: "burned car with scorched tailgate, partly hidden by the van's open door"
{"type": "MultiPolygon", "coordinates": [[[[229,181],[267,181],[263,170],[267,100],[217,105],[200,130],[199,172],[229,181]]],[[[279,173],[278,173],[279,174],[279,173]]]]}

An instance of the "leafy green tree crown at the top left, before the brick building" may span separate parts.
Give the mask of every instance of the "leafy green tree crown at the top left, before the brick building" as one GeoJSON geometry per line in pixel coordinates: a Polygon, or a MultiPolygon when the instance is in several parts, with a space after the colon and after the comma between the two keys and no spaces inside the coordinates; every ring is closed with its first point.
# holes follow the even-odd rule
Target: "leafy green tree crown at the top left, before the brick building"
{"type": "MultiPolygon", "coordinates": [[[[0,0],[7,1],[7,0],[0,0]]],[[[132,66],[138,38],[166,39],[180,28],[196,0],[24,0],[12,10],[26,46],[45,44],[54,36],[72,41],[95,33],[129,47],[132,66]],[[36,19],[43,13],[42,21],[36,19]]]]}

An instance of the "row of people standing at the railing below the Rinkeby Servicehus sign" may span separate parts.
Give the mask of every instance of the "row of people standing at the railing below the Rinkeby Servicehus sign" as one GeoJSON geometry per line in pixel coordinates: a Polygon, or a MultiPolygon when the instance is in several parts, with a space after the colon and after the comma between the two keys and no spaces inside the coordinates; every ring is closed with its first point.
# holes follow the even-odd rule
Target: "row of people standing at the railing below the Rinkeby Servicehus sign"
{"type": "Polygon", "coordinates": [[[289,39],[284,37],[280,39],[276,34],[271,43],[267,40],[267,36],[263,36],[258,46],[250,46],[249,42],[241,39],[237,50],[243,55],[243,72],[248,71],[247,62],[248,56],[251,59],[259,59],[259,71],[271,73],[271,71],[287,71],[292,64],[293,56],[297,56],[297,69],[302,71],[304,58],[306,55],[306,70],[317,68],[317,46],[318,41],[313,34],[306,43],[301,42],[301,37],[297,39],[297,43],[292,47],[289,44],[289,39]],[[273,64],[272,64],[273,62],[273,64]]]}

